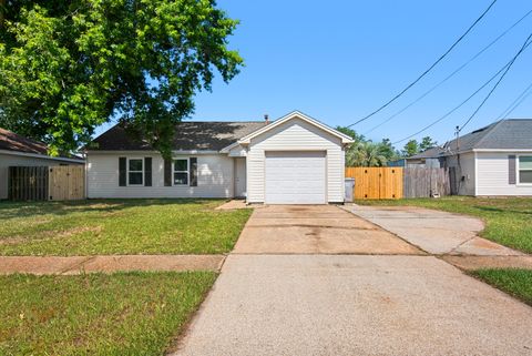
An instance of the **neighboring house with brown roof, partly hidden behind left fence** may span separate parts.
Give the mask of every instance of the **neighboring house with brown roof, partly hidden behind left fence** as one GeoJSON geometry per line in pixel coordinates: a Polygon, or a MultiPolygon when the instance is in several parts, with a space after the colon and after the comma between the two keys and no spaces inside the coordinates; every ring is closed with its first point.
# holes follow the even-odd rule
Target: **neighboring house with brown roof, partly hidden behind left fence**
{"type": "Polygon", "coordinates": [[[48,146],[9,130],[0,129],[0,199],[8,199],[10,166],[52,166],[83,164],[80,159],[52,157],[48,146]]]}

